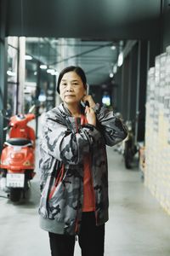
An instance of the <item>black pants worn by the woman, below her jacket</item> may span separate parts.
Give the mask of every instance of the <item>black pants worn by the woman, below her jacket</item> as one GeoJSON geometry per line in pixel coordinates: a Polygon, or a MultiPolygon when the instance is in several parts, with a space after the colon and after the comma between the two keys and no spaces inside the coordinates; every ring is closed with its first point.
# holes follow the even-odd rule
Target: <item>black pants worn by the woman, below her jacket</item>
{"type": "MultiPolygon", "coordinates": [[[[73,256],[75,236],[58,235],[49,232],[52,256],[73,256]]],[[[82,225],[78,235],[82,256],[103,256],[105,224],[96,226],[94,212],[82,213],[82,225]]]]}

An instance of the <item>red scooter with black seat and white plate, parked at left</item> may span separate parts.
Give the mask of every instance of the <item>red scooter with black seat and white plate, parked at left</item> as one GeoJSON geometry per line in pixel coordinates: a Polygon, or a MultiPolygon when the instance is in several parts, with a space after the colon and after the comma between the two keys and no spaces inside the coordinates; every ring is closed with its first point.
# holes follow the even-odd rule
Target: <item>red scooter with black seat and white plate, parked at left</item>
{"type": "Polygon", "coordinates": [[[9,133],[1,154],[0,186],[8,193],[11,201],[20,201],[21,195],[25,197],[26,190],[30,187],[30,180],[36,174],[34,172],[36,136],[34,130],[27,125],[35,119],[35,114],[31,113],[33,108],[35,106],[27,114],[10,117],[8,127],[4,128],[9,129],[9,133]]]}

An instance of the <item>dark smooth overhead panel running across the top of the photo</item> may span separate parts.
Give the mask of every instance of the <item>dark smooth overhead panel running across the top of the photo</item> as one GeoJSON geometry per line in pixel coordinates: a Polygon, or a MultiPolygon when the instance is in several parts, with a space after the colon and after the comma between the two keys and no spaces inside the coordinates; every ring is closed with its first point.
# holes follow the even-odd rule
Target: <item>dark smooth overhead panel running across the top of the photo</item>
{"type": "Polygon", "coordinates": [[[3,0],[6,35],[55,38],[156,37],[163,0],[3,0]]]}

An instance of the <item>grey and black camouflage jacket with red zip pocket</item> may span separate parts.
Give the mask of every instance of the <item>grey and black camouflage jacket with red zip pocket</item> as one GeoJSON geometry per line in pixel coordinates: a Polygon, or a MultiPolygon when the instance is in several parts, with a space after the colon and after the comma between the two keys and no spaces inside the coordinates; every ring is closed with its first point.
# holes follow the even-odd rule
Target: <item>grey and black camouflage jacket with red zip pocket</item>
{"type": "MultiPolygon", "coordinates": [[[[82,109],[83,113],[83,109],[82,109]]],[[[81,125],[63,103],[48,113],[40,140],[41,200],[39,214],[63,224],[63,234],[74,235],[81,224],[83,157],[91,157],[96,223],[108,220],[108,170],[105,146],[127,137],[120,119],[107,108],[96,111],[97,125],[81,125]],[[64,166],[64,168],[61,168],[64,166]]]]}

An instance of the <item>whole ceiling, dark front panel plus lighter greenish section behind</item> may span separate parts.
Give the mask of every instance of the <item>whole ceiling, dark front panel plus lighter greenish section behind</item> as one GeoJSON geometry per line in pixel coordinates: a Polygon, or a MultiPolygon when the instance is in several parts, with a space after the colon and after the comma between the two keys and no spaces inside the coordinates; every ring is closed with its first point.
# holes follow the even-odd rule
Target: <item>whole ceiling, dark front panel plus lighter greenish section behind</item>
{"type": "Polygon", "coordinates": [[[158,36],[162,1],[7,0],[6,36],[26,36],[26,53],[56,71],[78,65],[103,84],[122,42],[158,36]]]}

